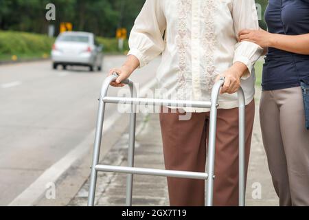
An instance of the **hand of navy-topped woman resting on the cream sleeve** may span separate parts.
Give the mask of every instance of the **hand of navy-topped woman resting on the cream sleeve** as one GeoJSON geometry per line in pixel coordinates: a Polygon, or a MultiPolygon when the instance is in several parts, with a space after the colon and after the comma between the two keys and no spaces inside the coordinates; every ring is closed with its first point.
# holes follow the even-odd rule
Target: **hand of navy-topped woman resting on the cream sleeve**
{"type": "Polygon", "coordinates": [[[269,47],[272,34],[265,30],[242,30],[239,32],[238,41],[249,41],[263,48],[269,47]]]}

